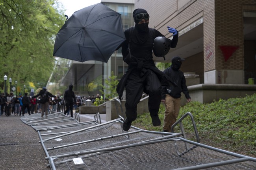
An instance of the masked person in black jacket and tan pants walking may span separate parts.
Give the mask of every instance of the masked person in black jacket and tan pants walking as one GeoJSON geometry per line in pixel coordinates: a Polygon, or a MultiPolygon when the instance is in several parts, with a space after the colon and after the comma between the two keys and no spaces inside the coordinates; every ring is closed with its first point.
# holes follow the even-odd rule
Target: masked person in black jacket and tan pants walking
{"type": "Polygon", "coordinates": [[[163,72],[170,77],[177,86],[162,86],[161,102],[165,104],[165,115],[163,119],[163,132],[171,132],[171,127],[176,122],[180,112],[181,92],[184,93],[187,102],[191,97],[187,90],[186,79],[184,73],[180,71],[180,66],[184,61],[183,58],[175,56],[172,58],[172,65],[163,72]]]}

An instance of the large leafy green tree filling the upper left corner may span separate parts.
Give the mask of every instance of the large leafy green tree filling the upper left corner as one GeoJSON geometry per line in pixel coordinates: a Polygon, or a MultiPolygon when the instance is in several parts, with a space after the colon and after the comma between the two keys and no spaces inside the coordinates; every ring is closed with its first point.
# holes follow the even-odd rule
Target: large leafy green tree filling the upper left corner
{"type": "Polygon", "coordinates": [[[45,86],[54,66],[55,35],[64,22],[57,0],[0,0],[0,75],[18,85],[45,86]]]}

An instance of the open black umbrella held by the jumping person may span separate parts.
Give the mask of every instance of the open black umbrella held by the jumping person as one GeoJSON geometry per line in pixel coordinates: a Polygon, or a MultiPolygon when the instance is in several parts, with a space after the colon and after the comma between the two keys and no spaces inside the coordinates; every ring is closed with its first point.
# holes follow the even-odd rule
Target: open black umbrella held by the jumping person
{"type": "Polygon", "coordinates": [[[99,3],[70,16],[56,35],[53,55],[108,62],[124,40],[121,14],[99,3]]]}

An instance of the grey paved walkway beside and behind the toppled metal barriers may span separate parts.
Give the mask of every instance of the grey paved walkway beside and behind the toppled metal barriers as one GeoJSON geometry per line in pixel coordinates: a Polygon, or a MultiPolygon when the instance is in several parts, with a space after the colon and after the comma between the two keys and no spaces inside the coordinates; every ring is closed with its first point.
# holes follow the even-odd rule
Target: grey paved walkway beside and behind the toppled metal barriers
{"type": "MultiPolygon", "coordinates": [[[[100,115],[104,122],[106,115],[100,115]]],[[[94,120],[94,114],[80,115],[80,121],[94,120]]],[[[50,170],[38,133],[20,116],[0,117],[0,170],[50,170]]]]}

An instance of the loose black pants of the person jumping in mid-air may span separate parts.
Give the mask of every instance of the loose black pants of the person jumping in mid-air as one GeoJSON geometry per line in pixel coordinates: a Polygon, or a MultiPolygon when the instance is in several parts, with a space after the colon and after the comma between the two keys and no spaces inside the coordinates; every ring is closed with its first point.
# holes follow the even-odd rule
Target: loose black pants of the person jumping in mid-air
{"type": "Polygon", "coordinates": [[[126,82],[125,114],[127,119],[137,119],[137,104],[143,93],[147,93],[150,116],[158,114],[161,103],[161,83],[155,73],[147,73],[140,77],[140,72],[132,72],[126,82]]]}

